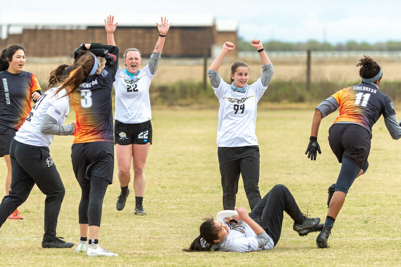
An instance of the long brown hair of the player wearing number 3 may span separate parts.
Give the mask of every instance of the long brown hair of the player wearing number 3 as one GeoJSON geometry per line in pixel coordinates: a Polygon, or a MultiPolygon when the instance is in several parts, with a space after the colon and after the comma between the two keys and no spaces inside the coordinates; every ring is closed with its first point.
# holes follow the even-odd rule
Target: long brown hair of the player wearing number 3
{"type": "Polygon", "coordinates": [[[66,89],[66,96],[71,95],[80,84],[89,76],[95,64],[95,58],[89,51],[82,54],[73,64],[73,70],[70,76],[63,82],[61,87],[57,89],[56,94],[61,90],[66,89]]]}

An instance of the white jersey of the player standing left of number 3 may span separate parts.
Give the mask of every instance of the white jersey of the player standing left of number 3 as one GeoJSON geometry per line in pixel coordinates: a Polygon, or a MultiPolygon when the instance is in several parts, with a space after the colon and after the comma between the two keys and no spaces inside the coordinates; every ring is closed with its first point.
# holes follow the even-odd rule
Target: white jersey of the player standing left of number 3
{"type": "Polygon", "coordinates": [[[48,114],[57,121],[57,124],[62,125],[70,110],[69,98],[64,97],[66,90],[61,90],[55,96],[57,89],[58,87],[47,90],[38,99],[14,139],[32,146],[50,146],[54,135],[42,133],[43,118],[48,114]]]}

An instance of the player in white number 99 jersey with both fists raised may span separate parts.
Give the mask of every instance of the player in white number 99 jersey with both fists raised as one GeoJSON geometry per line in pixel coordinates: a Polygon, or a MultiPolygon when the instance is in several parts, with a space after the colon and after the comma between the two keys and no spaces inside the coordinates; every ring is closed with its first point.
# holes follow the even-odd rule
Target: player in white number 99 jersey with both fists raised
{"type": "Polygon", "coordinates": [[[262,75],[255,83],[248,85],[248,65],[243,61],[231,65],[230,84],[220,78],[218,70],[223,59],[235,48],[231,42],[224,43],[222,51],[208,70],[210,83],[220,101],[217,145],[224,209],[235,207],[240,174],[250,208],[253,209],[261,200],[256,113],[258,102],[272,79],[273,66],[260,40],[252,40],[251,45],[258,51],[262,61],[262,75]]]}

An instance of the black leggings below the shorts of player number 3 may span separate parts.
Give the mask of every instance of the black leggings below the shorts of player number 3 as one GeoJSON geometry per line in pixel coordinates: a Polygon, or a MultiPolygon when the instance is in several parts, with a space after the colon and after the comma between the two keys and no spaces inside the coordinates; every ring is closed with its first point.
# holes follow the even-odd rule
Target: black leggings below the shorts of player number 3
{"type": "Polygon", "coordinates": [[[88,183],[81,185],[81,201],[79,202],[79,223],[100,227],[103,198],[109,181],[92,176],[88,183]]]}

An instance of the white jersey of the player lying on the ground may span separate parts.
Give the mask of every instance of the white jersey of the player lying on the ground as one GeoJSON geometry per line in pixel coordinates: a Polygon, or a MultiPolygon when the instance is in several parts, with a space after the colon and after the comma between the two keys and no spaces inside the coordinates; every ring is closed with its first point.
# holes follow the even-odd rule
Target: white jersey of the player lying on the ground
{"type": "Polygon", "coordinates": [[[252,228],[244,221],[240,225],[234,225],[222,221],[228,226],[229,235],[224,238],[222,242],[214,245],[212,249],[219,251],[232,251],[232,252],[251,252],[262,249],[272,249],[274,247],[273,239],[263,247],[259,247],[257,234],[252,228]]]}

